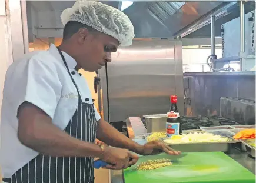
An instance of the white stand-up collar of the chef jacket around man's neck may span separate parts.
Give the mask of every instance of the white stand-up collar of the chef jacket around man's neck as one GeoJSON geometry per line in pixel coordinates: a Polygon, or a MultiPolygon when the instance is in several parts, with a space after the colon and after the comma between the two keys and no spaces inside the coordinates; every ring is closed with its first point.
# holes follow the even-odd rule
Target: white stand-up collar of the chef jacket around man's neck
{"type": "MultiPolygon", "coordinates": [[[[58,48],[54,44],[50,45],[49,51],[55,56],[56,59],[62,61],[61,55],[59,55],[58,48]]],[[[61,52],[65,58],[65,61],[67,62],[68,68],[75,69],[75,66],[77,66],[77,62],[75,61],[75,59],[68,55],[66,52],[61,52]]]]}

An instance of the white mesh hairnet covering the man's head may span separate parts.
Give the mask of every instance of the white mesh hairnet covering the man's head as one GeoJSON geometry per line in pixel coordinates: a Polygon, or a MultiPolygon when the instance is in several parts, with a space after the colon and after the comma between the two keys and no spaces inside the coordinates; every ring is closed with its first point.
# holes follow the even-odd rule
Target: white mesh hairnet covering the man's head
{"type": "Polygon", "coordinates": [[[132,44],[134,26],[128,16],[112,6],[97,1],[78,0],[61,14],[62,24],[77,21],[117,39],[122,46],[132,44]]]}

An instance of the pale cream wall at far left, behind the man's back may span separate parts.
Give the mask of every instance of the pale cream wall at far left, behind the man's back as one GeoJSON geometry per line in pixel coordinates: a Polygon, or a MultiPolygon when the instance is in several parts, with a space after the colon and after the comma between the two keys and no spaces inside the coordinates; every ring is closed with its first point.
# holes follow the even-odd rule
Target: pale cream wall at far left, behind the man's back
{"type": "Polygon", "coordinates": [[[10,0],[5,2],[6,14],[0,16],[0,111],[6,70],[15,59],[24,55],[25,51],[28,51],[28,40],[26,37],[28,32],[26,24],[21,19],[21,16],[23,16],[26,20],[25,1],[10,0]],[[22,9],[24,11],[21,11],[22,9]],[[24,39],[26,39],[25,45],[24,39]]]}

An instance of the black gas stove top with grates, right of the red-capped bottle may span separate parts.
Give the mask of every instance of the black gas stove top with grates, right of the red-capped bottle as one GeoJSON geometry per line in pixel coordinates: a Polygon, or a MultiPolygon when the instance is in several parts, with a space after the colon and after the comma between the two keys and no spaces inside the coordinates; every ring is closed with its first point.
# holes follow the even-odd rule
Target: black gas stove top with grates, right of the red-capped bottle
{"type": "Polygon", "coordinates": [[[181,117],[182,130],[200,129],[200,127],[213,127],[220,125],[240,125],[235,121],[218,116],[210,117],[181,117]]]}

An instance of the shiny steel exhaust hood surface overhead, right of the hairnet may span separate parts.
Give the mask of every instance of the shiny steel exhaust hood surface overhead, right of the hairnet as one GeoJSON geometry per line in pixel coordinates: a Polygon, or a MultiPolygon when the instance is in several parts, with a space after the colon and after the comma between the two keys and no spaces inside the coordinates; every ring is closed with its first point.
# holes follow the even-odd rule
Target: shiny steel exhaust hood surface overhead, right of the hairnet
{"type": "Polygon", "coordinates": [[[223,2],[134,2],[124,10],[136,38],[173,38],[175,33],[223,2]]]}

